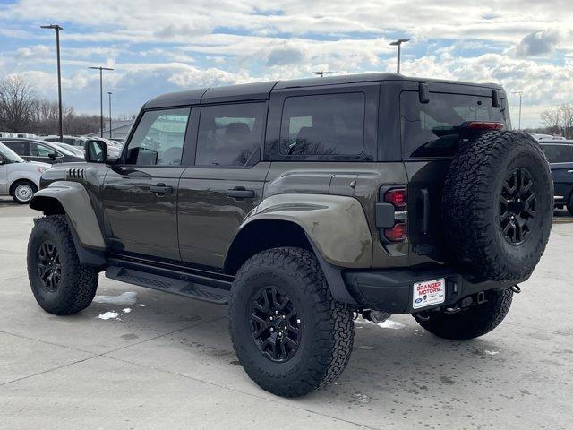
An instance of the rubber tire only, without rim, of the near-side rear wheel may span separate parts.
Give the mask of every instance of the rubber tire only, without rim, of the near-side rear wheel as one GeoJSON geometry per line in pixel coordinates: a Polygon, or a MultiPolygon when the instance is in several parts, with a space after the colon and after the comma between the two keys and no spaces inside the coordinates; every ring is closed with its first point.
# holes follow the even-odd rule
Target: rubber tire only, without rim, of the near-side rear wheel
{"type": "Polygon", "coordinates": [[[264,390],[284,397],[303,396],[334,381],[354,342],[352,312],[330,295],[316,257],[295,247],[263,251],[240,268],[231,288],[229,331],[246,373],[264,390]],[[290,297],[300,319],[295,355],[279,363],[263,355],[250,321],[252,300],[269,286],[290,297]]]}

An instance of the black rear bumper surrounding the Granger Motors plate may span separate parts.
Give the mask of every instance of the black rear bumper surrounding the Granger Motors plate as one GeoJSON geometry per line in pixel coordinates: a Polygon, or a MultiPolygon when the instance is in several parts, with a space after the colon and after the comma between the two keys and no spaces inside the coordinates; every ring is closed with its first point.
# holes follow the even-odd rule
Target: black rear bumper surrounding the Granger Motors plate
{"type": "Polygon", "coordinates": [[[463,297],[488,289],[510,288],[516,281],[469,280],[456,271],[447,268],[432,270],[384,270],[384,271],[345,271],[343,280],[358,305],[391,314],[412,314],[414,312],[453,305],[463,297]],[[440,305],[430,305],[414,309],[412,305],[413,285],[425,280],[446,280],[446,299],[440,305]]]}

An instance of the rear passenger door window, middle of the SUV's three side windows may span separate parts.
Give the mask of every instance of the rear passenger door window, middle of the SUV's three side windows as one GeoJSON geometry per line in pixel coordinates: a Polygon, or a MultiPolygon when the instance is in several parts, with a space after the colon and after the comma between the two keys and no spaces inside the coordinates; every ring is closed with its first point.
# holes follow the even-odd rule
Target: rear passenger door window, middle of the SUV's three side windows
{"type": "Polygon", "coordinates": [[[249,166],[259,160],[265,103],[201,107],[197,166],[249,166]]]}

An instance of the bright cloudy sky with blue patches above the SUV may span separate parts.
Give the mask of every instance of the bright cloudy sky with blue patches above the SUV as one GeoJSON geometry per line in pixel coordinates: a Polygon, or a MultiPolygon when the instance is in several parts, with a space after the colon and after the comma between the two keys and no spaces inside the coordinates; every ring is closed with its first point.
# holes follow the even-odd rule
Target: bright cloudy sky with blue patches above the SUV
{"type": "Polygon", "coordinates": [[[336,73],[394,71],[500,82],[514,125],[538,125],[547,107],[573,102],[570,0],[0,0],[0,78],[18,73],[56,99],[53,30],[62,32],[64,104],[97,113],[98,72],[115,112],[131,114],[170,90],[336,73]],[[473,4],[473,5],[465,5],[473,4]]]}

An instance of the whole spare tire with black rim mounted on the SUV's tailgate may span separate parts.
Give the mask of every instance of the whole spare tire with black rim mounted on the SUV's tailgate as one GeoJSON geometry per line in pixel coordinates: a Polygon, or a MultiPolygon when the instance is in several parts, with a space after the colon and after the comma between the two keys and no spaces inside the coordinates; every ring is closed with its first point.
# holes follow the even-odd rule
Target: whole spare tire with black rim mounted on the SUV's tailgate
{"type": "Polygon", "coordinates": [[[539,144],[512,131],[462,142],[446,175],[441,215],[453,262],[480,280],[526,280],[552,227],[553,182],[539,144]]]}

